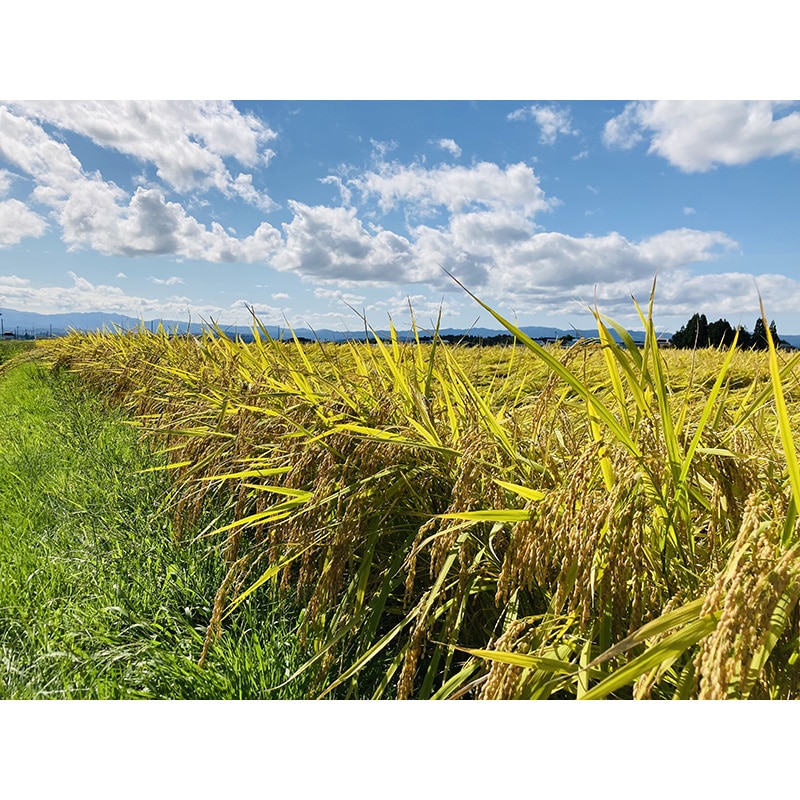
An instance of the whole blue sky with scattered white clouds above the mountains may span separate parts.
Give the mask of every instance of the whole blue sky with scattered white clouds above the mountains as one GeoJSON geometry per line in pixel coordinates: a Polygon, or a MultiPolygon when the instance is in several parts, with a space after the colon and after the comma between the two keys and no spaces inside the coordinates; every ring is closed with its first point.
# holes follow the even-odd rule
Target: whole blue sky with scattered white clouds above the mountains
{"type": "MultiPolygon", "coordinates": [[[[359,328],[625,322],[800,331],[800,105],[0,105],[0,307],[359,328]]],[[[492,325],[494,327],[494,325],[492,325]]]]}

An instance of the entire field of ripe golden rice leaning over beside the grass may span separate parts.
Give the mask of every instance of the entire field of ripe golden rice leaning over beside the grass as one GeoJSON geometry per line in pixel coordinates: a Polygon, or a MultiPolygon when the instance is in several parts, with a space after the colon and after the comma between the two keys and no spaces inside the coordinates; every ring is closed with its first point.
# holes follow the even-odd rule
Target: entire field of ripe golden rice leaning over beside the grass
{"type": "Polygon", "coordinates": [[[206,648],[294,593],[318,696],[797,697],[797,357],[660,350],[652,297],[643,347],[599,313],[542,347],[481,305],[513,347],[254,320],[45,354],[167,454],[178,535],[212,520],[206,648]]]}

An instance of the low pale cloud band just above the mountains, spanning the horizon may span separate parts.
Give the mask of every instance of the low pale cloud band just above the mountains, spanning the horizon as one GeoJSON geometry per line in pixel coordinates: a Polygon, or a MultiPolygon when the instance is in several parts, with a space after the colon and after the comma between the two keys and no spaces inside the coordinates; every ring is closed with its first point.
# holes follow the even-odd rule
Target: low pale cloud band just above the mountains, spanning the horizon
{"type": "MultiPolygon", "coordinates": [[[[572,244],[576,253],[581,248],[585,253],[604,249],[601,244],[593,250],[590,242],[581,240],[572,244]]],[[[624,240],[620,244],[624,245],[624,240]]],[[[552,242],[550,245],[551,249],[556,249],[552,242]]],[[[636,246],[632,247],[635,251],[636,246]]],[[[185,321],[191,316],[193,321],[214,319],[224,325],[249,325],[251,321],[243,301],[239,299],[228,306],[193,302],[180,296],[154,299],[127,295],[115,286],[93,284],[73,272],[69,273],[69,277],[71,282],[66,286],[35,287],[26,278],[0,275],[0,304],[7,308],[26,308],[45,314],[101,310],[142,319],[185,321]]],[[[594,280],[596,277],[599,275],[588,272],[584,275],[584,283],[579,285],[559,282],[537,285],[533,275],[528,275],[528,281],[525,282],[524,274],[501,274],[498,271],[492,274],[490,284],[480,290],[479,296],[498,310],[501,310],[501,306],[511,304],[513,311],[520,314],[564,313],[575,317],[576,313],[586,313],[587,327],[591,327],[592,323],[585,309],[593,304],[596,296],[603,313],[636,325],[631,295],[640,303],[647,302],[653,282],[652,265],[642,264],[641,274],[638,275],[634,271],[628,277],[616,279],[594,280]]],[[[480,288],[467,285],[472,289],[480,288]]],[[[670,320],[669,325],[675,329],[698,310],[706,310],[715,318],[726,317],[731,324],[741,323],[752,330],[758,314],[757,290],[761,291],[764,298],[768,317],[783,312],[794,313],[800,305],[800,281],[785,275],[770,274],[755,278],[738,272],[694,275],[683,268],[661,272],[655,301],[656,319],[661,322],[657,324],[664,327],[665,321],[670,320]]],[[[366,302],[362,295],[341,289],[317,287],[314,293],[327,299],[332,304],[331,310],[324,312],[317,309],[292,314],[289,317],[292,326],[357,330],[359,320],[344,306],[343,301],[346,301],[359,310],[363,307],[368,322],[375,327],[384,325],[385,314],[391,315],[398,326],[406,327],[409,297],[401,291],[370,302],[366,302]]],[[[440,305],[443,306],[445,321],[461,314],[470,314],[473,310],[476,316],[481,313],[479,308],[473,309],[471,301],[459,293],[448,292],[443,299],[431,293],[417,293],[412,294],[410,299],[417,322],[423,327],[436,319],[440,305]]],[[[265,324],[280,325],[284,322],[284,309],[281,308],[257,304],[256,313],[265,324]]]]}

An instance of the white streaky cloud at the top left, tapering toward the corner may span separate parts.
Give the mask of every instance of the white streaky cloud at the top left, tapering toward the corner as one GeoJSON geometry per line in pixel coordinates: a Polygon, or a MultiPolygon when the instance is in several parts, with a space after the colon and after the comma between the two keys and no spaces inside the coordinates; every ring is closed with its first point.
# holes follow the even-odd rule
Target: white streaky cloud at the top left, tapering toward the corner
{"type": "Polygon", "coordinates": [[[274,206],[254,189],[252,175],[232,177],[224,159],[249,167],[265,164],[274,153],[264,145],[276,134],[230,102],[36,101],[13,107],[153,163],[159,178],[178,192],[216,188],[261,208],[274,206]]]}

